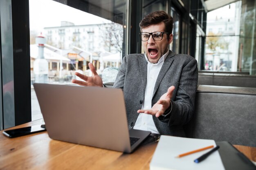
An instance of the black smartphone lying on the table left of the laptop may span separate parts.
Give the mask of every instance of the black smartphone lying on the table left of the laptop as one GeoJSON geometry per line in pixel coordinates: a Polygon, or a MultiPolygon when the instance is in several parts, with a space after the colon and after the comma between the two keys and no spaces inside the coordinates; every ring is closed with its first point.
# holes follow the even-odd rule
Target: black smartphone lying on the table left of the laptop
{"type": "Polygon", "coordinates": [[[43,132],[45,131],[45,125],[35,125],[35,126],[28,126],[25,128],[18,128],[18,129],[12,129],[12,130],[4,130],[3,134],[7,137],[19,137],[24,135],[30,135],[33,133],[43,132]]]}

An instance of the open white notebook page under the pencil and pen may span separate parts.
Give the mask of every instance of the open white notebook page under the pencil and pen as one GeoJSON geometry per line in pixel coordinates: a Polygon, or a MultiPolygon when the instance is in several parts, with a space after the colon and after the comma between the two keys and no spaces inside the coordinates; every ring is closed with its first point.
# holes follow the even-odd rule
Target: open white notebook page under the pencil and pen
{"type": "Polygon", "coordinates": [[[218,150],[204,161],[194,162],[212,148],[177,158],[180,154],[211,145],[216,146],[214,140],[162,135],[150,162],[150,170],[225,170],[218,150]]]}

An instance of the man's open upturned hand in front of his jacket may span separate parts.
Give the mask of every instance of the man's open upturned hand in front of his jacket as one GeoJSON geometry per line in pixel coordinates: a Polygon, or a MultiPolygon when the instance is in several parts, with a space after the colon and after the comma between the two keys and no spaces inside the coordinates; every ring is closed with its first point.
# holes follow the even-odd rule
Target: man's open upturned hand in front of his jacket
{"type": "Polygon", "coordinates": [[[137,113],[146,113],[149,115],[155,115],[155,117],[159,117],[160,115],[163,115],[165,110],[170,106],[171,104],[171,98],[173,97],[173,91],[175,87],[171,86],[168,88],[167,92],[164,93],[160,99],[157,101],[154,106],[149,110],[138,110],[137,113]]]}

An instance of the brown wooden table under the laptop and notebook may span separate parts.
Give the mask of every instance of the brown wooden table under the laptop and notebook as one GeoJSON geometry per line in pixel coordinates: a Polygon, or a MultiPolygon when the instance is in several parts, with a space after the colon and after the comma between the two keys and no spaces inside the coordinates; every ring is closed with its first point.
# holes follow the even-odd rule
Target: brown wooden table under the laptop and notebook
{"type": "MultiPolygon", "coordinates": [[[[16,126],[40,124],[40,120],[16,126]]],[[[12,129],[12,128],[9,128],[12,129]]],[[[52,140],[47,132],[8,138],[0,131],[0,170],[149,170],[157,143],[140,146],[132,154],[52,140]]],[[[256,161],[256,148],[235,147],[256,161]]]]}

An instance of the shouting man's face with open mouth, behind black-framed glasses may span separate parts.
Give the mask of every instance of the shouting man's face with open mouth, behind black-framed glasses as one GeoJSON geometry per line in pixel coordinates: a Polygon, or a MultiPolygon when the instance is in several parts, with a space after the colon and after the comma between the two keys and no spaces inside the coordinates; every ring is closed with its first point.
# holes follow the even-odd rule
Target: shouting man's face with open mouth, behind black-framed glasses
{"type": "MultiPolygon", "coordinates": [[[[143,28],[142,32],[153,33],[153,32],[165,32],[164,22],[159,24],[153,24],[143,28]]],[[[168,51],[168,45],[173,41],[173,34],[163,34],[163,39],[155,41],[150,35],[148,41],[142,41],[143,49],[148,57],[148,61],[151,63],[157,63],[158,60],[168,51]],[[170,37],[167,40],[167,37],[170,37]]]]}

